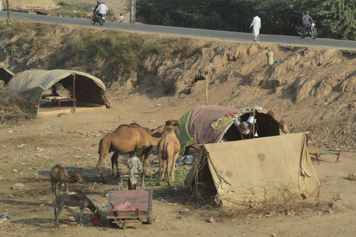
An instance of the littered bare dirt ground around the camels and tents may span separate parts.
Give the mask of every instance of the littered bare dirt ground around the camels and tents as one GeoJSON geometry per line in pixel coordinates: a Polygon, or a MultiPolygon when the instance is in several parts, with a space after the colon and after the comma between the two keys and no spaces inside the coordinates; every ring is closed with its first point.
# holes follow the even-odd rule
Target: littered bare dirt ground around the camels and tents
{"type": "MultiPolygon", "coordinates": [[[[0,220],[0,236],[355,236],[356,183],[347,179],[356,170],[355,153],[351,152],[342,153],[337,164],[335,155],[322,156],[320,165],[313,159],[321,183],[319,202],[333,202],[339,195],[348,202],[344,209],[318,209],[314,203],[315,208],[298,209],[294,216],[276,213],[265,218],[258,214],[227,217],[218,209],[197,208],[192,202],[187,203],[187,196],[179,190],[148,186],[154,189],[154,223],[126,230],[110,226],[104,217],[107,205],[104,191],[117,188],[118,180],[107,176],[110,160],[106,158],[104,174],[109,183],[100,184],[95,168],[100,138],[122,123],[137,122],[153,128],[166,119],[180,118],[192,105],[205,103],[204,94],[179,98],[154,92],[148,96],[143,93],[147,86],[141,85],[131,94],[125,90],[109,90],[112,109],[76,113],[63,110],[0,128],[0,213],[11,214],[9,220],[0,220]],[[20,145],[23,146],[18,148],[20,145]],[[70,218],[74,216],[78,221],[79,210],[70,210],[62,212],[60,229],[54,229],[48,174],[57,163],[65,166],[70,174],[78,171],[86,179],[86,184],[72,184],[70,191],[86,194],[100,207],[103,227],[88,225],[89,210],[85,211],[84,226],[79,226],[70,218]],[[13,190],[16,183],[24,184],[25,189],[13,190]],[[210,217],[216,222],[207,222],[210,217]]],[[[219,96],[218,89],[212,85],[212,99],[219,96]]],[[[155,158],[149,158],[149,174],[158,169],[155,158]]],[[[122,163],[121,168],[125,169],[122,163]]]]}

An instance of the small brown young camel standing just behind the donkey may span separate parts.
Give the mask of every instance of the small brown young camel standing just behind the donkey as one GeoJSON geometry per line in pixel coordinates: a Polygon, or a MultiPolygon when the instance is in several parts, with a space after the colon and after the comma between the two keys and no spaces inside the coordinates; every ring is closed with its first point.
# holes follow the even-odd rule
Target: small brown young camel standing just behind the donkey
{"type": "Polygon", "coordinates": [[[65,189],[66,189],[66,194],[69,193],[68,191],[68,184],[74,183],[74,182],[81,182],[84,183],[84,179],[80,174],[75,174],[73,176],[69,176],[67,171],[60,166],[59,164],[56,164],[52,167],[52,169],[49,172],[50,180],[51,180],[51,187],[52,187],[52,194],[54,194],[57,197],[57,184],[59,183],[59,189],[62,189],[62,183],[64,182],[65,189]]]}

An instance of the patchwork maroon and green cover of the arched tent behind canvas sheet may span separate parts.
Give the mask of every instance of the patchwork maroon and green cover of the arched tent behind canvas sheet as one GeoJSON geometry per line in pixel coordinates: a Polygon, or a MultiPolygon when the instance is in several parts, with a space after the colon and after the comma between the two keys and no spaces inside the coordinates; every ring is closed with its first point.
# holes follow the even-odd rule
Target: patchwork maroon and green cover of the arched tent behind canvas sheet
{"type": "MultiPolygon", "coordinates": [[[[257,113],[269,115],[267,117],[279,126],[279,133],[274,135],[289,133],[278,114],[261,107],[255,108],[257,113]]],[[[234,123],[234,118],[251,111],[252,108],[228,108],[218,105],[204,105],[189,110],[179,119],[180,134],[176,134],[181,147],[179,155],[184,153],[186,147],[193,144],[220,142],[227,129],[234,123]]]]}

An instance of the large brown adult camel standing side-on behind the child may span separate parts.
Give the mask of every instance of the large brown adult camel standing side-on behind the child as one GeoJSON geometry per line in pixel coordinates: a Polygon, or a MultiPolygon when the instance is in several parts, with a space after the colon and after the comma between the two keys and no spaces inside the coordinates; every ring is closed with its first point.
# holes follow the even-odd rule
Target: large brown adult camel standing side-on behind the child
{"type": "MultiPolygon", "coordinates": [[[[99,142],[99,160],[96,164],[102,181],[105,183],[101,165],[110,152],[128,154],[135,151],[136,156],[141,158],[147,148],[157,146],[159,141],[160,138],[151,136],[144,129],[130,127],[127,124],[122,124],[115,131],[107,133],[99,142]]],[[[143,169],[144,165],[145,163],[143,162],[143,169]]]]}

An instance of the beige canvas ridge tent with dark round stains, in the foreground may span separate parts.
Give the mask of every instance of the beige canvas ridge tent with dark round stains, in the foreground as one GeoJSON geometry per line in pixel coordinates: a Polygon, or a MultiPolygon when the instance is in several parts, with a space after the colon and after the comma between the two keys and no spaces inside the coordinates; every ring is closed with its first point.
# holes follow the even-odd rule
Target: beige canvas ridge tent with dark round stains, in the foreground
{"type": "Polygon", "coordinates": [[[204,150],[200,167],[191,169],[184,184],[201,196],[215,196],[223,206],[318,196],[320,183],[304,133],[205,144],[204,150]]]}

